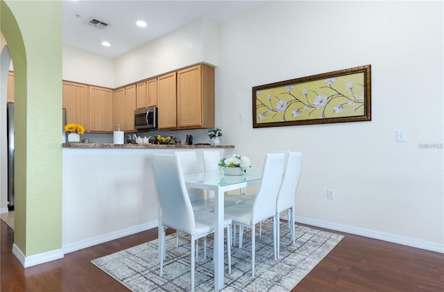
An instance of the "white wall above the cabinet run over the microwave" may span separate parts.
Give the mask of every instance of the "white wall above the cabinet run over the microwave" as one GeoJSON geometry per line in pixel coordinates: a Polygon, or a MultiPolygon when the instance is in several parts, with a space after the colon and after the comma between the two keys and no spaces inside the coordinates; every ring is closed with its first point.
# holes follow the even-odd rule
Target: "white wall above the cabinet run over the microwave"
{"type": "Polygon", "coordinates": [[[115,60],[115,87],[200,62],[216,66],[217,30],[212,21],[199,19],[118,57],[115,60]]]}

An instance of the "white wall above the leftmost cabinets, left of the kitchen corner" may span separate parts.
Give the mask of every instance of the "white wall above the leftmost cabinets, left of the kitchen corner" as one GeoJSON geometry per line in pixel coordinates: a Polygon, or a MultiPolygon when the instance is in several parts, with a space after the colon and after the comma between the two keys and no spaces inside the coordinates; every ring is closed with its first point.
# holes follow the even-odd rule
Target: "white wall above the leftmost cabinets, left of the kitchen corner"
{"type": "Polygon", "coordinates": [[[114,60],[63,46],[62,78],[74,82],[114,88],[114,60]]]}

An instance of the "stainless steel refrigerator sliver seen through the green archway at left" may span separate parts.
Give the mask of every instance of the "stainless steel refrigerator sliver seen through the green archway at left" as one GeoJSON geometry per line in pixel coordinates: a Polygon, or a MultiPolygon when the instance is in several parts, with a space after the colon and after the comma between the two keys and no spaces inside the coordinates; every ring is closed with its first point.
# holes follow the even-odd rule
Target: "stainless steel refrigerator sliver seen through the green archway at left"
{"type": "Polygon", "coordinates": [[[14,210],[14,104],[9,102],[6,108],[8,128],[8,210],[14,210]]]}

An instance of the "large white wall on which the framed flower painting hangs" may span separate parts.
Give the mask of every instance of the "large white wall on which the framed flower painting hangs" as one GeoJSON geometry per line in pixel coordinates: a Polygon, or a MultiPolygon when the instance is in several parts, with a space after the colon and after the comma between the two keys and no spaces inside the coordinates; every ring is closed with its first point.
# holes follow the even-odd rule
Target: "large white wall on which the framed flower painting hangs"
{"type": "Polygon", "coordinates": [[[222,24],[216,124],[253,164],[303,153],[299,219],[443,249],[442,1],[273,1],[222,24]],[[253,129],[253,86],[366,64],[371,122],[253,129]]]}

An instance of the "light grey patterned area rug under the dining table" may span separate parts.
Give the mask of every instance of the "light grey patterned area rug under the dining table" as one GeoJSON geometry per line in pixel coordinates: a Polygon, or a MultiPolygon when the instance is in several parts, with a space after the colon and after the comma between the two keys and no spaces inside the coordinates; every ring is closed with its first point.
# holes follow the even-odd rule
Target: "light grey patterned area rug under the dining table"
{"type": "MultiPolygon", "coordinates": [[[[280,259],[274,260],[273,222],[262,223],[262,236],[256,232],[255,277],[251,277],[251,232],[244,230],[243,246],[231,250],[232,273],[228,274],[225,237],[225,288],[222,291],[291,291],[305,275],[341,241],[343,235],[296,225],[296,245],[290,240],[288,223],[280,222],[280,259]]],[[[214,291],[212,235],[207,239],[207,257],[203,240],[196,259],[195,291],[214,291]]],[[[130,291],[190,291],[190,242],[181,235],[176,248],[175,235],[167,236],[164,276],[160,277],[157,239],[92,260],[130,291]]]]}

